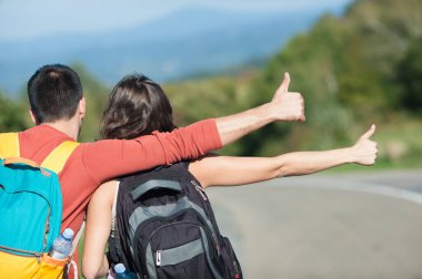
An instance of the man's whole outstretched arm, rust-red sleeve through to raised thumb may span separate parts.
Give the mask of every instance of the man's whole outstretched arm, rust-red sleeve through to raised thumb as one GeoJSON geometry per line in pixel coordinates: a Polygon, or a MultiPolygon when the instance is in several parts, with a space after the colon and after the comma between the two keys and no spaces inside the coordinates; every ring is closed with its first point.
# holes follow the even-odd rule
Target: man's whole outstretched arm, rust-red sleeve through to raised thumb
{"type": "Polygon", "coordinates": [[[304,121],[303,99],[288,92],[289,83],[285,74],[270,103],[239,114],[201,121],[171,133],[84,144],[84,166],[96,184],[101,184],[159,165],[198,158],[273,121],[304,121]]]}

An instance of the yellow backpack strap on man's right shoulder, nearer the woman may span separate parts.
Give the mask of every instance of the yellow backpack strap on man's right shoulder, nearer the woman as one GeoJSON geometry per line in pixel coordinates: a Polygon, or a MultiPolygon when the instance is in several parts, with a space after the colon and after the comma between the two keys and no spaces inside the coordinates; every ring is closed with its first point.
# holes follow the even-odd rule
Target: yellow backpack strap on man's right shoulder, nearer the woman
{"type": "Polygon", "coordinates": [[[79,143],[70,141],[61,143],[50,153],[50,155],[47,156],[47,158],[44,158],[41,166],[53,170],[57,174],[60,173],[69,156],[78,145],[79,143]]]}

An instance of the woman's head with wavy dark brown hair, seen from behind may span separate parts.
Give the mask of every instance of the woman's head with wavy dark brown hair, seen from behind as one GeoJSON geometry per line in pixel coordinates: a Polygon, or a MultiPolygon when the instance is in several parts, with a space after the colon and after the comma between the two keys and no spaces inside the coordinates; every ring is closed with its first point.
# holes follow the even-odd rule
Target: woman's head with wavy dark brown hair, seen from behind
{"type": "Polygon", "coordinates": [[[103,138],[130,140],[153,131],[170,132],[173,110],[161,86],[141,74],[124,76],[111,91],[102,116],[103,138]]]}

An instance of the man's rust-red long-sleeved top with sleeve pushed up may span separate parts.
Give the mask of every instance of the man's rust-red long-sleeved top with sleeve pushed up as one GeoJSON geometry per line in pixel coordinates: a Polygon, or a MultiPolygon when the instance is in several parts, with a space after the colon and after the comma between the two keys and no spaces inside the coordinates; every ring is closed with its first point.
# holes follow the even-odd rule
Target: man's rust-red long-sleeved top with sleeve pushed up
{"type": "MultiPolygon", "coordinates": [[[[72,138],[41,124],[19,133],[20,155],[41,164],[64,141],[72,138]]],[[[63,196],[61,230],[67,227],[79,230],[89,199],[101,183],[159,165],[192,159],[221,146],[214,120],[135,140],[80,144],[59,174],[63,196]]]]}

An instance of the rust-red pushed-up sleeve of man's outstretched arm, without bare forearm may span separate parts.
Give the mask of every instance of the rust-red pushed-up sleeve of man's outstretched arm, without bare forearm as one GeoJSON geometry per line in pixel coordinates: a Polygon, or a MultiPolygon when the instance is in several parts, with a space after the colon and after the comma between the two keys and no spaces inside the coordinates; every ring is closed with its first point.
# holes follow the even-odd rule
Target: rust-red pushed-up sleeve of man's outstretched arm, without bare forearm
{"type": "Polygon", "coordinates": [[[204,120],[170,133],[81,144],[80,154],[86,170],[99,185],[122,175],[198,158],[221,146],[215,121],[204,120]]]}

